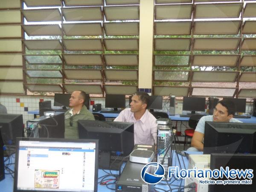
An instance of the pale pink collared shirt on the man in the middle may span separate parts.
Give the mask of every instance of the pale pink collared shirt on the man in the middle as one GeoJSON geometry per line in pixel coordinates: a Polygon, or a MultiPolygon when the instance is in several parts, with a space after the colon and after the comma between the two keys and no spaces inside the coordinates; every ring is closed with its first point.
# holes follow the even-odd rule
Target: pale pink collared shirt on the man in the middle
{"type": "Polygon", "coordinates": [[[157,143],[156,118],[146,110],[143,116],[136,120],[131,108],[126,108],[114,121],[134,123],[134,144],[154,145],[157,143]]]}

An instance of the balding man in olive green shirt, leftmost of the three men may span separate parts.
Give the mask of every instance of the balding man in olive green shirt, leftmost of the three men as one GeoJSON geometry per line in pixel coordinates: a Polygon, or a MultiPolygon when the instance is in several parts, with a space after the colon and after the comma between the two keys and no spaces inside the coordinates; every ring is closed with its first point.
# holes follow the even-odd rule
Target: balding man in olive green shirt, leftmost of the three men
{"type": "Polygon", "coordinates": [[[65,138],[79,139],[77,121],[95,120],[91,113],[84,105],[86,93],[81,90],[73,91],[70,97],[70,110],[65,112],[65,138]]]}

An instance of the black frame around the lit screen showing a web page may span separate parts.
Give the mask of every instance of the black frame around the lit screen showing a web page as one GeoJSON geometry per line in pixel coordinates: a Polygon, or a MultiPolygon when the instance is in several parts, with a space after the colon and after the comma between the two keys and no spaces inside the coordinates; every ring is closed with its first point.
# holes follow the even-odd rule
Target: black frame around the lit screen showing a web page
{"type": "MultiPolygon", "coordinates": [[[[95,170],[94,170],[94,191],[98,189],[98,159],[99,159],[99,140],[91,140],[91,139],[56,139],[56,138],[24,138],[17,137],[16,140],[16,154],[15,154],[15,174],[14,174],[14,183],[13,183],[13,192],[38,192],[37,190],[18,190],[17,189],[17,175],[18,175],[18,160],[19,160],[19,141],[46,141],[46,142],[72,142],[72,143],[96,143],[95,147],[95,170]]],[[[66,192],[66,191],[49,191],[49,190],[40,190],[40,192],[66,192]]]]}

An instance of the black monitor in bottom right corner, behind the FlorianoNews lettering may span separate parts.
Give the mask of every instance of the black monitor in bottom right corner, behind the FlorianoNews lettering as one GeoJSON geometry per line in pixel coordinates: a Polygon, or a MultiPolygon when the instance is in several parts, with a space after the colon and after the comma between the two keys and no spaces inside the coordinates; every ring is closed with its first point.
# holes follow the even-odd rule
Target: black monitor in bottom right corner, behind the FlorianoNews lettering
{"type": "MultiPolygon", "coordinates": [[[[210,169],[220,169],[223,167],[226,169],[253,169],[253,174],[256,172],[256,154],[211,154],[210,169]]],[[[216,180],[246,180],[247,178],[227,178],[223,175],[223,178],[219,177],[216,180]]],[[[213,180],[215,180],[213,178],[213,180]]],[[[250,180],[250,179],[247,179],[250,180]]],[[[256,189],[256,177],[251,178],[251,184],[214,184],[209,185],[208,192],[253,192],[256,189]]],[[[241,181],[242,182],[242,181],[241,181]]]]}

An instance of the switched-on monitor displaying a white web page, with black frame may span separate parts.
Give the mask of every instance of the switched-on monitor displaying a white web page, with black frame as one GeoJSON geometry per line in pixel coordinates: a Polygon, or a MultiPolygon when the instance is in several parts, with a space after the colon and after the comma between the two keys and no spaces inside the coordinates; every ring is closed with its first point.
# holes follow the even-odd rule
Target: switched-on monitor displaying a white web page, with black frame
{"type": "Polygon", "coordinates": [[[97,191],[98,140],[18,138],[16,148],[14,192],[97,191]]]}

